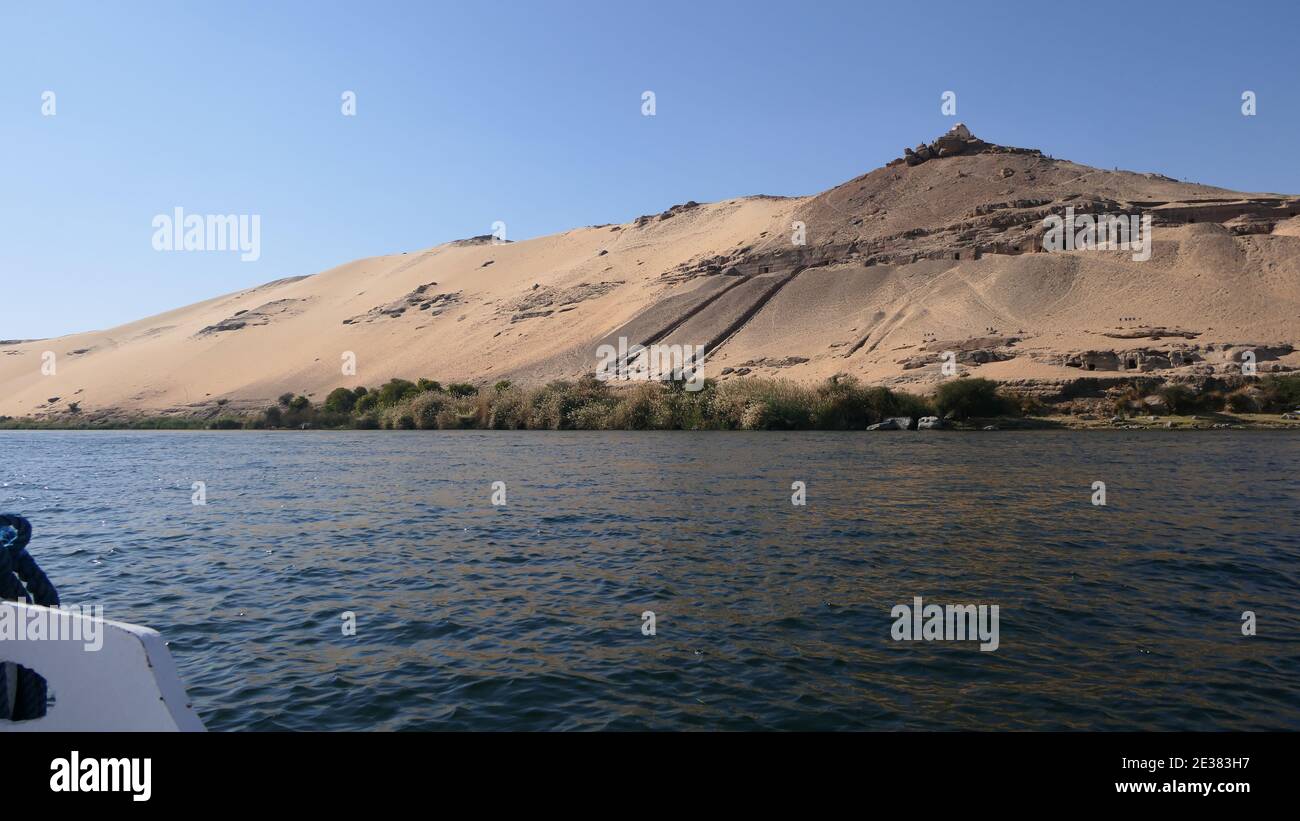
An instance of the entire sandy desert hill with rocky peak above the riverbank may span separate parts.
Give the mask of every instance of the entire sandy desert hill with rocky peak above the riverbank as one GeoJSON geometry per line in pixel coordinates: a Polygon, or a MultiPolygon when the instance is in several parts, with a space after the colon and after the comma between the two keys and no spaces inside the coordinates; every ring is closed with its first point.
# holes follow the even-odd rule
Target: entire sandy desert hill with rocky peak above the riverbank
{"type": "Polygon", "coordinates": [[[255,407],[391,377],[575,378],[620,336],[703,344],[722,379],[848,373],[924,390],[948,352],[967,373],[1040,385],[1240,372],[1244,351],[1268,373],[1300,366],[1297,214],[1297,197],[1093,169],[959,127],[815,196],[474,238],[0,343],[0,414],[255,407]],[[1067,213],[1149,217],[1149,259],[1044,252],[1044,220],[1067,213]]]}

